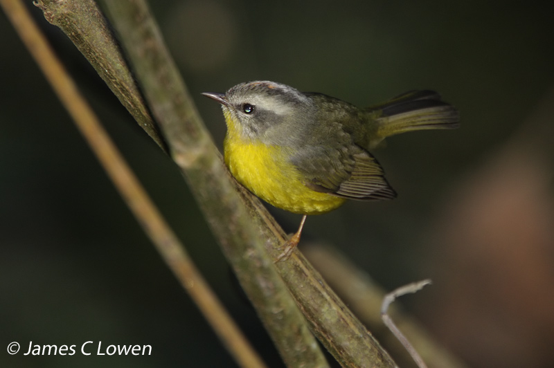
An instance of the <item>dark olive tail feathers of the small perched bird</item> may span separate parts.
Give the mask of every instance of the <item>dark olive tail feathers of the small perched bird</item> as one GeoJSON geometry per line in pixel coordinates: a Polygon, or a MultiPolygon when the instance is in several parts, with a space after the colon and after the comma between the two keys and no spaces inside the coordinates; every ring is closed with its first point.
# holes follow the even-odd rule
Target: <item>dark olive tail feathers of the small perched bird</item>
{"type": "Polygon", "coordinates": [[[377,122],[375,140],[377,146],[388,136],[405,131],[423,129],[456,129],[460,126],[460,114],[455,107],[440,100],[435,91],[410,91],[392,100],[369,107],[368,113],[377,122]]]}

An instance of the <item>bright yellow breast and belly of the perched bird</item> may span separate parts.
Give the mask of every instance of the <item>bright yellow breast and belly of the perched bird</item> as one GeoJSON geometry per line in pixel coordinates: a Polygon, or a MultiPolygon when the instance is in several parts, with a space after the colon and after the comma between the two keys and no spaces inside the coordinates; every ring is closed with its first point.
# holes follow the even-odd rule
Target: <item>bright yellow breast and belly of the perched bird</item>
{"type": "Polygon", "coordinates": [[[277,208],[298,214],[322,214],[346,201],[306,187],[300,173],[287,162],[287,152],[280,147],[227,136],[224,154],[237,181],[277,208]]]}

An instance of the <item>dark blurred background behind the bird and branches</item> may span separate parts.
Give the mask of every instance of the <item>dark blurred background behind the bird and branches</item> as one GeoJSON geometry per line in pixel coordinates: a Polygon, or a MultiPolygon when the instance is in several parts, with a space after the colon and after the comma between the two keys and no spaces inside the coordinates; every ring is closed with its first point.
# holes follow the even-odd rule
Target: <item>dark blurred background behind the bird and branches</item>
{"type": "MultiPolygon", "coordinates": [[[[28,1],[30,5],[30,1],[28,1]]],[[[174,164],[62,32],[37,21],[193,259],[271,367],[283,367],[174,164]]],[[[152,2],[218,145],[202,92],[274,80],[358,106],[435,89],[456,131],[375,151],[395,201],[309,217],[470,367],[554,362],[554,23],[537,3],[152,2]]],[[[0,14],[0,366],[233,367],[0,14]],[[23,357],[33,344],[150,344],[148,357],[23,357]]],[[[285,230],[300,216],[271,209],[285,230]]]]}

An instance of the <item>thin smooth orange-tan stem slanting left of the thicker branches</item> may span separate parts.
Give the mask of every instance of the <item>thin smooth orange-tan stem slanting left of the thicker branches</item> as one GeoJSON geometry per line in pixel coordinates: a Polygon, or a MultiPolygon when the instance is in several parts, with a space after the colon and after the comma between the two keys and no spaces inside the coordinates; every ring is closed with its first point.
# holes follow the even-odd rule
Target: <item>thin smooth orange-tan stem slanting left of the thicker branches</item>
{"type": "Polygon", "coordinates": [[[265,367],[188,258],[184,247],[101,127],[23,3],[19,0],[0,0],[0,4],[134,216],[144,225],[161,256],[220,339],[242,367],[265,367]]]}

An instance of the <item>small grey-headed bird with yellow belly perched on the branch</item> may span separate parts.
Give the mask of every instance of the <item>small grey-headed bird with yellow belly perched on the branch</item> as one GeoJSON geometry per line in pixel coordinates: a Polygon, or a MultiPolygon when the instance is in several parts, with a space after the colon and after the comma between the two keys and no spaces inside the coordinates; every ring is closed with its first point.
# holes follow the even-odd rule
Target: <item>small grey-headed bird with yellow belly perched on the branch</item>
{"type": "Polygon", "coordinates": [[[278,260],[296,248],[306,215],[332,211],[347,199],[396,196],[369,153],[384,138],[459,127],[458,111],[434,91],[410,91],[364,109],[269,81],[202,94],[222,104],[231,174],[267,203],[304,215],[278,260]]]}

